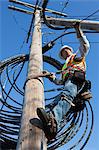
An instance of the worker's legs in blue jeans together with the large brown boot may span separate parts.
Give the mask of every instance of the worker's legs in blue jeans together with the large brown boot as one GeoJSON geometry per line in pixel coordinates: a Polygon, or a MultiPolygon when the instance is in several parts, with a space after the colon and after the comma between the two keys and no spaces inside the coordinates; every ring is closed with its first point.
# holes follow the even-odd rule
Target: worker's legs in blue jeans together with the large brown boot
{"type": "Polygon", "coordinates": [[[55,106],[52,110],[52,114],[50,113],[51,116],[49,113],[46,113],[43,108],[37,109],[38,117],[42,120],[45,135],[49,140],[55,138],[60,122],[71,107],[71,105],[66,100],[61,100],[61,96],[63,94],[69,97],[70,101],[73,101],[73,98],[77,94],[77,85],[73,84],[71,81],[66,83],[63,92],[57,96],[54,101],[55,106]]]}

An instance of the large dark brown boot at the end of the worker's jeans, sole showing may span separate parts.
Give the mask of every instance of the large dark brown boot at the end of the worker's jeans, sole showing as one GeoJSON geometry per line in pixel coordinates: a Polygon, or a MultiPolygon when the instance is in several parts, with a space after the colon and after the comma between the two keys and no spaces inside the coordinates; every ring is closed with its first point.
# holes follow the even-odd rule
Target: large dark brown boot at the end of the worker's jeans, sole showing
{"type": "Polygon", "coordinates": [[[43,108],[37,108],[37,115],[42,120],[43,130],[48,141],[55,138],[57,134],[57,122],[53,114],[48,114],[43,108]]]}

